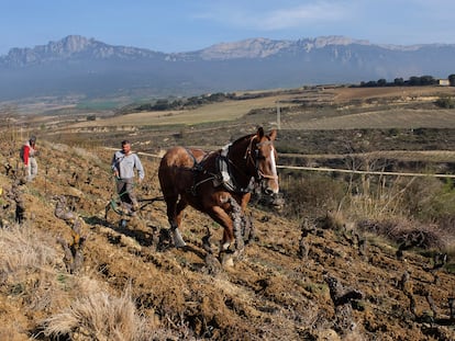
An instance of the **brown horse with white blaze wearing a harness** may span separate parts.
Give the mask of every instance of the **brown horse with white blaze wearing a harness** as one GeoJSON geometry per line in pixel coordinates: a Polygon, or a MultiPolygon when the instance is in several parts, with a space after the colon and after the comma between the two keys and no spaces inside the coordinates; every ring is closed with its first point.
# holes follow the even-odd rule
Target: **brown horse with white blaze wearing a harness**
{"type": "Polygon", "coordinates": [[[233,243],[234,229],[240,228],[232,213],[244,214],[253,189],[260,185],[263,193],[278,194],[276,135],[275,129],[266,135],[259,127],[256,134],[238,138],[218,151],[174,147],[165,154],[158,178],[177,248],[186,246],[179,227],[188,205],[224,227],[223,251],[233,243]]]}

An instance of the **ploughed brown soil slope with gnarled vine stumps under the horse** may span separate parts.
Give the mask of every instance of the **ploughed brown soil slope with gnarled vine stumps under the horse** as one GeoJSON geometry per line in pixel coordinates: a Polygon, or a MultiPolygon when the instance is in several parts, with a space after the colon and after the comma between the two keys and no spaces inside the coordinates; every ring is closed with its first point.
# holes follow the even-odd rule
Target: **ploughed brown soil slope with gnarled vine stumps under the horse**
{"type": "MultiPolygon", "coordinates": [[[[156,159],[142,157],[147,174],[136,187],[144,200],[140,214],[124,217],[109,209],[104,217],[115,198],[111,150],[41,140],[37,179],[18,183],[19,146],[4,145],[2,340],[57,340],[45,332],[45,321],[84,299],[87,283],[97,283],[111,297],[131,296],[151,330],[142,340],[455,339],[450,315],[455,274],[437,269],[432,258],[417,250],[397,257],[395,246],[358,230],[356,221],[340,227],[326,224],[328,218],[288,220],[252,205],[254,238],[232,266],[223,266],[217,251],[210,254],[202,242],[209,238],[212,250],[218,250],[221,228],[192,209],[182,228],[188,247],[173,248],[164,203],[146,202],[160,196],[156,159]],[[60,200],[73,219],[56,216],[60,200]],[[23,211],[21,224],[14,223],[18,207],[23,211]],[[75,228],[76,220],[80,223],[75,228]],[[7,263],[11,253],[21,252],[5,247],[9,231],[16,230],[25,237],[15,242],[46,247],[49,259],[41,265],[7,263]],[[65,246],[75,245],[80,247],[76,269],[65,253],[65,246]]],[[[85,326],[58,340],[93,339],[133,337],[97,336],[85,326]]]]}

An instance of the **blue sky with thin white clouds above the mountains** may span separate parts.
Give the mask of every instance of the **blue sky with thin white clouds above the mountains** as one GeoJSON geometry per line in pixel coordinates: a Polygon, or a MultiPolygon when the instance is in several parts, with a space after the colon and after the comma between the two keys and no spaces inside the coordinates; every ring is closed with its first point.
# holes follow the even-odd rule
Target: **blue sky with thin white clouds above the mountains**
{"type": "Polygon", "coordinates": [[[454,0],[0,0],[0,55],[77,34],[174,53],[253,37],[455,44],[454,0]]]}

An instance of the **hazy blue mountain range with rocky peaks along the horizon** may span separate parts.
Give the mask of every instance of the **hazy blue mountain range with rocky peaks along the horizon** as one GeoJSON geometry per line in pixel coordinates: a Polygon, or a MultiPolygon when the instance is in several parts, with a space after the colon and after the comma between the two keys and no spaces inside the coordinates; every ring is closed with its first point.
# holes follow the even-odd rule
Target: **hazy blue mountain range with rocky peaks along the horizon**
{"type": "Polygon", "coordinates": [[[455,73],[455,45],[375,45],[344,36],[251,38],[166,54],[79,35],[0,56],[0,100],[208,92],[359,83],[455,73]]]}

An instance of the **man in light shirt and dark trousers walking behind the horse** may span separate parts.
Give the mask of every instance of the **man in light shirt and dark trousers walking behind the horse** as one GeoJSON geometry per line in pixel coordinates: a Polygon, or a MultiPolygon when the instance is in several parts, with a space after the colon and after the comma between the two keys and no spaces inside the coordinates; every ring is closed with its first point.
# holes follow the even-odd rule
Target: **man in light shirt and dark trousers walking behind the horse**
{"type": "Polygon", "coordinates": [[[111,168],[116,181],[116,193],[122,205],[129,214],[138,208],[137,197],[134,192],[134,171],[137,172],[138,182],[144,180],[144,168],[138,156],[131,151],[131,143],[122,141],[122,149],[114,152],[111,168]]]}

